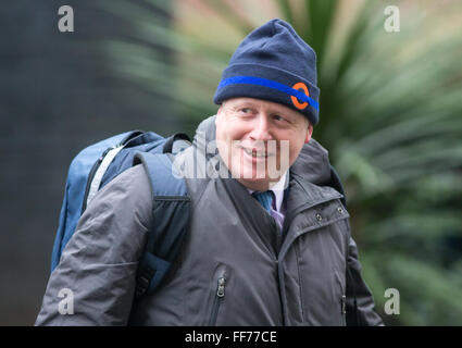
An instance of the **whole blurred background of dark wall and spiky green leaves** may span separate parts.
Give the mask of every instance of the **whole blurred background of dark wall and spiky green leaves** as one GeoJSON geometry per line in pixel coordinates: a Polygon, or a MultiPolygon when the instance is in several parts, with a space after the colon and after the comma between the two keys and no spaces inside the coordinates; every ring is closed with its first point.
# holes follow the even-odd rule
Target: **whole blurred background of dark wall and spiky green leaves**
{"type": "Polygon", "coordinates": [[[377,311],[388,325],[462,325],[458,0],[2,2],[0,325],[35,322],[79,150],[129,129],[192,136],[237,45],[273,17],[317,52],[313,136],[346,186],[377,311]],[[73,33],[58,29],[61,5],[73,33]],[[399,32],[384,27],[388,5],[399,32]],[[388,288],[399,314],[384,311],[388,288]]]}

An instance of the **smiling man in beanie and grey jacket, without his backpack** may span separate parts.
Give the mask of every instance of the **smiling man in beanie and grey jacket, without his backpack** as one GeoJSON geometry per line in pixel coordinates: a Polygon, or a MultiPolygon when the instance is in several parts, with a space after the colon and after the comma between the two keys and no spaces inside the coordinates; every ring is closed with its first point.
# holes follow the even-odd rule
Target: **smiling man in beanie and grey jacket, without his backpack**
{"type": "Polygon", "coordinates": [[[317,100],[315,53],[294,28],[273,20],[250,33],[223,73],[216,116],[175,160],[192,211],[161,287],[134,302],[155,223],[137,165],[88,206],[36,324],[380,325],[342,196],[329,186],[327,151],[311,139],[317,100]],[[72,314],[60,314],[63,288],[72,290],[72,314]]]}

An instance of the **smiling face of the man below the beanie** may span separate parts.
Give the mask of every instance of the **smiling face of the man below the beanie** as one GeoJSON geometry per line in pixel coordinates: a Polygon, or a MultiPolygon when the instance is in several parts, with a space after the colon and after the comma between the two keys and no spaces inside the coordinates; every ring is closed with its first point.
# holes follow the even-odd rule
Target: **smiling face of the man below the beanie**
{"type": "Polygon", "coordinates": [[[226,100],[215,125],[223,162],[233,177],[253,190],[266,190],[272,182],[278,182],[313,133],[303,114],[253,98],[226,100]]]}

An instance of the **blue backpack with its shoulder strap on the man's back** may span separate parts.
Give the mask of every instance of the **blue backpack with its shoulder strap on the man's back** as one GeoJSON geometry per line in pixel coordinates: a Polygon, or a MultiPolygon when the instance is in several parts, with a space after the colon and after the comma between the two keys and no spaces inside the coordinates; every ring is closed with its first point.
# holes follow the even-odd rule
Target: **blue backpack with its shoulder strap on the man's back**
{"type": "Polygon", "coordinates": [[[153,132],[115,135],[82,150],[72,161],[51,254],[51,272],[73,236],[78,220],[95,195],[114,177],[141,163],[149,177],[153,221],[137,276],[135,298],[155,290],[175,260],[189,220],[184,179],[172,173],[173,156],[190,145],[186,134],[164,138],[153,132]]]}

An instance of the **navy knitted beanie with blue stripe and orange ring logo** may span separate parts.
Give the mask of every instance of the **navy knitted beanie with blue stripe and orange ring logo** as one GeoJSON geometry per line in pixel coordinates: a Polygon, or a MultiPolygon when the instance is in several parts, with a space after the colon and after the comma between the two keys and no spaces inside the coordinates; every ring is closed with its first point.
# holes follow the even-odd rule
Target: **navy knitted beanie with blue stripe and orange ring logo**
{"type": "Polygon", "coordinates": [[[251,32],[223,71],[213,101],[236,97],[274,101],[304,114],[312,125],[320,119],[316,53],[282,20],[251,32]]]}

